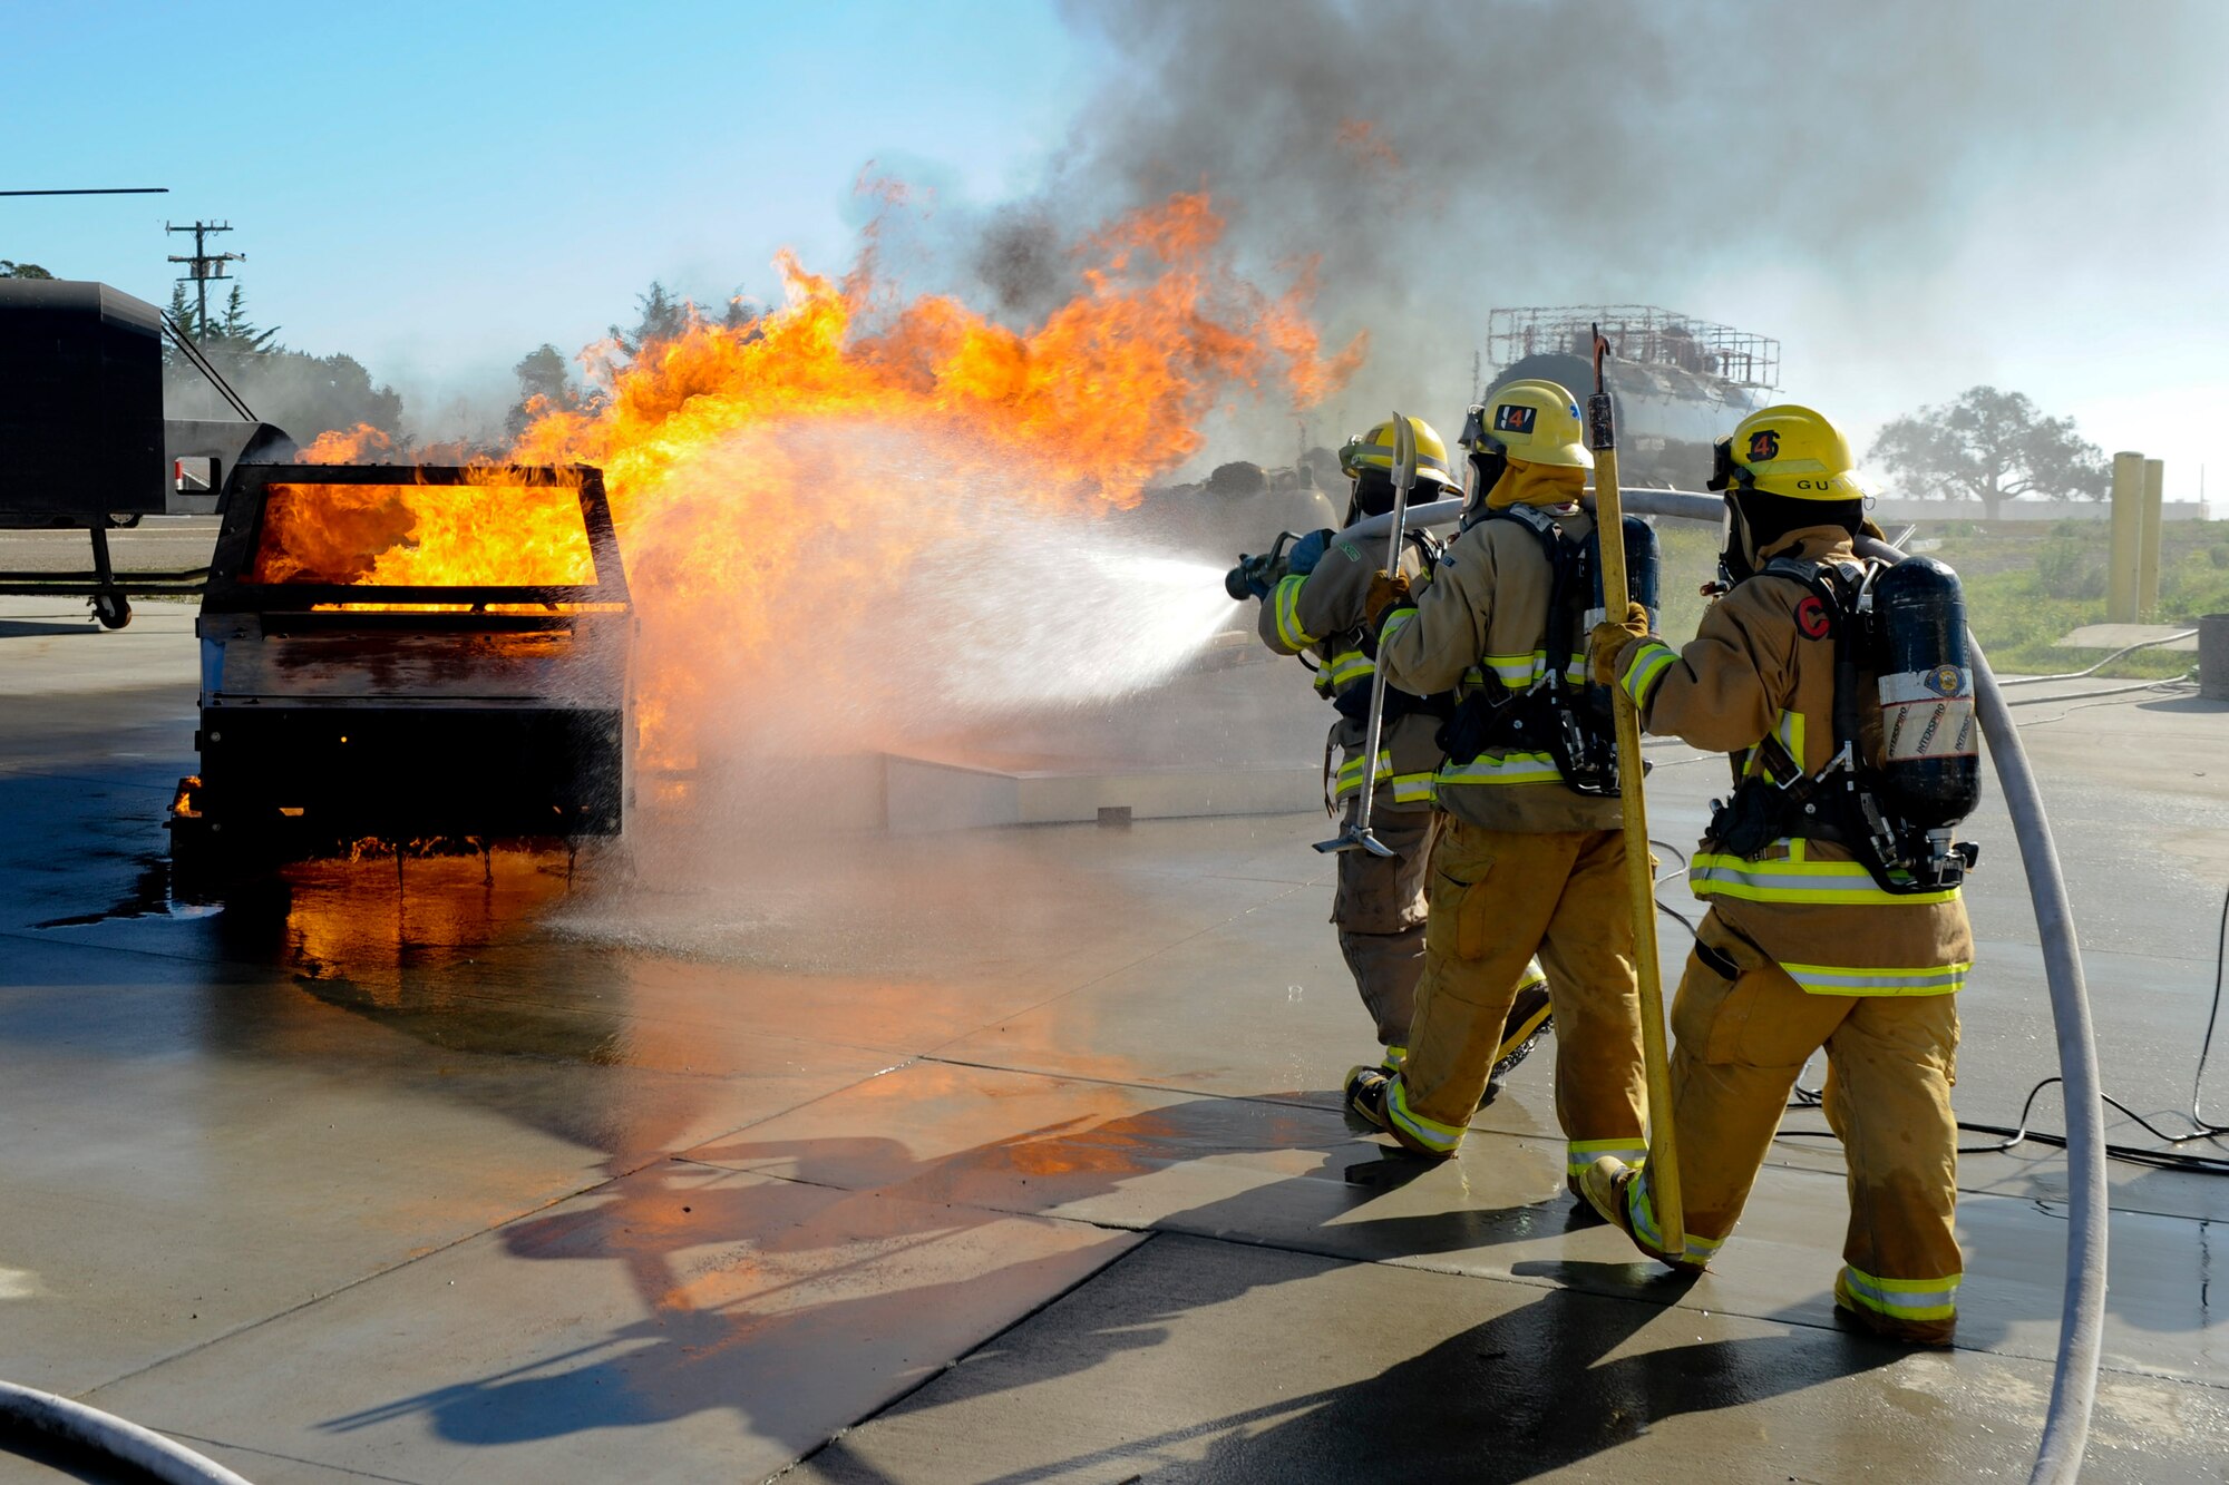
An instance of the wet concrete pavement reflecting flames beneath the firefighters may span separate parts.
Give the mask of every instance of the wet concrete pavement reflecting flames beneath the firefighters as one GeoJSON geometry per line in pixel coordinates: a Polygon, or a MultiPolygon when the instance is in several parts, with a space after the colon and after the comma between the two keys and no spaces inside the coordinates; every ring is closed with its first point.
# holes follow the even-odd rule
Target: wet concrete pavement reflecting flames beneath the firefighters
{"type": "MultiPolygon", "coordinates": [[[[1366,1023],[1320,814],[814,841],[693,809],[571,879],[372,858],[178,908],[192,611],[62,609],[0,604],[9,1380],[256,1481],[2026,1469],[2060,1159],[1964,1162],[1959,1349],[1921,1356],[1832,1324],[1832,1142],[1777,1146],[1694,1282],[1574,1213],[1547,1057],[1460,1162],[1380,1164],[1335,1113],[1366,1023]]],[[[2171,1110],[2229,707],[2077,707],[2022,711],[2106,1086],[2171,1110]]],[[[1685,845],[1723,774],[1658,758],[1685,845]]],[[[1959,1110],[2008,1124],[2053,1059],[1995,809],[1959,1110]]],[[[2220,1180],[2115,1171],[2089,1478],[2225,1478],[2225,1215],[2220,1180]]]]}

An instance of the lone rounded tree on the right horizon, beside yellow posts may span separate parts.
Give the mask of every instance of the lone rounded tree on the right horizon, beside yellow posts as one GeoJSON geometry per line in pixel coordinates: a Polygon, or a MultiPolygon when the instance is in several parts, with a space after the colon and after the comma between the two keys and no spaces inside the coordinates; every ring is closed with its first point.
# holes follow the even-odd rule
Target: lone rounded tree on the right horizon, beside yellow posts
{"type": "Polygon", "coordinates": [[[1979,499],[1986,520],[2022,495],[2102,499],[2109,486],[2104,453],[2071,417],[2044,417],[2022,392],[1993,386],[1895,419],[1866,457],[1921,495],[1979,499]]]}

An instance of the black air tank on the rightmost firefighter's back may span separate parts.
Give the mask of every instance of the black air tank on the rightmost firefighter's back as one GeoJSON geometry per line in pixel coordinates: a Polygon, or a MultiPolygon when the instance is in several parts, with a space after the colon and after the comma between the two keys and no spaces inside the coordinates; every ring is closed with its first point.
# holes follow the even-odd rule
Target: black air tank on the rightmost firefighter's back
{"type": "Polygon", "coordinates": [[[1973,658],[1957,573],[1933,557],[1906,557],[1872,580],[1872,611],[1881,771],[1910,825],[1955,825],[1982,803],[1973,658]]]}

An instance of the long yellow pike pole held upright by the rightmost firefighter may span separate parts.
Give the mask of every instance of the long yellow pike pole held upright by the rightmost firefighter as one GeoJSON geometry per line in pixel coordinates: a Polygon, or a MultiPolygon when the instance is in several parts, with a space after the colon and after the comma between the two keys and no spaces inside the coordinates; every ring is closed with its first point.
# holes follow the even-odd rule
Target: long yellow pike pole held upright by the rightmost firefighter
{"type": "MultiPolygon", "coordinates": [[[[1609,341],[1594,328],[1594,397],[1587,399],[1587,444],[1594,448],[1594,528],[1603,551],[1603,609],[1625,618],[1632,586],[1625,578],[1625,511],[1618,493],[1618,430],[1609,412],[1603,357],[1609,341]]],[[[1672,1066],[1665,1052],[1663,965],[1656,957],[1656,879],[1649,872],[1649,812],[1641,798],[1641,711],[1616,691],[1618,805],[1625,812],[1625,892],[1634,901],[1634,970],[1641,977],[1641,1061],[1649,1075],[1649,1197],[1663,1251],[1687,1251],[1687,1209],[1678,1195],[1678,1139],[1672,1133],[1672,1066]]]]}

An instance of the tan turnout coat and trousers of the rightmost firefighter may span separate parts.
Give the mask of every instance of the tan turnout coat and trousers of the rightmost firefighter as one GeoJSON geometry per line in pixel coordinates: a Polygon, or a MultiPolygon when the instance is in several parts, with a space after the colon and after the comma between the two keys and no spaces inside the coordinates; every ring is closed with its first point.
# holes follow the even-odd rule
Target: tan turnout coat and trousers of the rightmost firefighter
{"type": "MultiPolygon", "coordinates": [[[[1808,526],[1759,562],[1850,560],[1839,526],[1808,526]]],[[[1834,640],[1803,582],[1754,575],[1712,604],[1681,651],[1649,635],[1618,653],[1618,685],[1652,734],[1725,751],[1736,774],[1834,751],[1834,640]]],[[[1859,680],[1859,745],[1881,758],[1881,711],[1859,680]]],[[[1783,783],[1774,778],[1772,783],[1783,783]]],[[[1904,1340],[1957,1322],[1957,990],[1973,930],[1957,890],[1890,894],[1830,841],[1783,836],[1756,856],[1703,838],[1690,870],[1710,903],[1672,1003],[1672,1117],[1687,1244],[1663,1253],[1649,1168],[1625,1184],[1634,1238],[1707,1264],[1732,1233],[1803,1064],[1826,1048],[1826,1117],[1850,1166],[1837,1302],[1904,1340]]]]}

